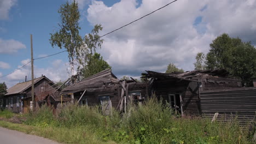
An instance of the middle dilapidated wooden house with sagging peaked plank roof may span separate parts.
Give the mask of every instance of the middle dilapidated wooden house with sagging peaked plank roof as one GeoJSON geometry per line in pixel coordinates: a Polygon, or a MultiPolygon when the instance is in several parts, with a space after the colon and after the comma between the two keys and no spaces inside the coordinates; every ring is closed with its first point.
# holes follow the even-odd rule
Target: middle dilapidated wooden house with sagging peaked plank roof
{"type": "Polygon", "coordinates": [[[71,100],[77,100],[80,104],[101,105],[103,113],[109,115],[112,107],[123,110],[126,95],[134,97],[135,101],[143,99],[146,95],[146,83],[120,81],[111,69],[106,69],[64,88],[61,94],[70,94],[71,100]]]}

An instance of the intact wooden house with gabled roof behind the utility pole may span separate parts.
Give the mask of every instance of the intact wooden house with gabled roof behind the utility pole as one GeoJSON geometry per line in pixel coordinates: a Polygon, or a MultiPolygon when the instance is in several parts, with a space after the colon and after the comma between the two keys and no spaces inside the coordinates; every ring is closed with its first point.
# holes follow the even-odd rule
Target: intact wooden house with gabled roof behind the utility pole
{"type": "MultiPolygon", "coordinates": [[[[8,88],[3,100],[5,108],[16,113],[28,112],[32,100],[31,84],[31,81],[25,81],[8,88]]],[[[34,79],[35,99],[38,99],[39,94],[52,85],[54,85],[54,82],[46,76],[34,79]]],[[[38,103],[36,103],[36,106],[39,106],[38,103]]]]}

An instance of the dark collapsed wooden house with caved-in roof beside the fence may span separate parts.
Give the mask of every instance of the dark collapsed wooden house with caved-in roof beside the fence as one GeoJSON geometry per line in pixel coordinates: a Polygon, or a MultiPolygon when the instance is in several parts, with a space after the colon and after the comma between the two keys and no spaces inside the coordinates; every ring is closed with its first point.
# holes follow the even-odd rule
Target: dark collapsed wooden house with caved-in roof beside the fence
{"type": "Polygon", "coordinates": [[[194,70],[186,73],[147,71],[149,93],[168,103],[182,115],[202,115],[200,93],[207,90],[238,88],[241,81],[228,77],[228,71],[194,70]]]}

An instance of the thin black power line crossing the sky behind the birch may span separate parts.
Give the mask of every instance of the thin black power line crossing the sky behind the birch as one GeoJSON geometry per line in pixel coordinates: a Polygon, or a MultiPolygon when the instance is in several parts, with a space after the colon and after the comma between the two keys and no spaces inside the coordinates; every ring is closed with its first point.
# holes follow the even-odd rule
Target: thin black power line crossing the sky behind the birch
{"type": "MultiPolygon", "coordinates": [[[[170,5],[171,3],[174,3],[174,2],[176,2],[176,1],[178,1],[178,0],[172,1],[172,2],[170,2],[170,3],[166,4],[166,5],[164,5],[163,7],[158,8],[158,9],[152,11],[151,13],[149,13],[149,14],[147,14],[147,15],[144,15],[144,16],[142,16],[142,17],[139,17],[139,19],[136,19],[136,20],[134,20],[134,21],[132,21],[132,22],[130,22],[130,23],[127,23],[126,25],[121,26],[121,27],[119,27],[119,28],[117,28],[117,29],[114,29],[113,31],[108,32],[108,33],[106,33],[106,34],[104,34],[104,35],[101,35],[100,38],[102,38],[102,37],[104,37],[104,36],[106,36],[106,35],[108,35],[108,34],[110,34],[110,33],[113,33],[113,32],[115,32],[115,31],[118,31],[118,30],[121,29],[121,28],[124,28],[124,27],[126,27],[126,26],[129,26],[129,25],[131,25],[133,22],[136,22],[136,21],[138,21],[138,20],[141,20],[141,19],[143,19],[144,17],[155,13],[155,11],[158,11],[158,10],[160,10],[160,9],[162,9],[162,8],[165,8],[165,7],[167,7],[168,5],[170,5]]],[[[67,50],[65,50],[65,51],[67,51],[67,50]]],[[[54,54],[52,54],[52,55],[48,55],[48,56],[44,56],[44,57],[34,58],[33,60],[41,59],[41,58],[46,58],[46,57],[50,57],[50,56],[54,56],[54,55],[58,55],[59,53],[62,53],[62,52],[65,52],[65,51],[57,52],[57,53],[54,53],[54,54]]],[[[30,61],[30,62],[31,62],[31,61],[30,61]]],[[[28,62],[28,63],[30,63],[30,62],[28,62]]],[[[22,67],[20,67],[19,69],[25,67],[25,65],[27,65],[28,63],[22,65],[22,67]]],[[[7,75],[12,74],[12,73],[14,73],[15,71],[17,71],[17,70],[19,70],[19,69],[16,69],[16,70],[14,70],[13,72],[11,72],[11,73],[9,73],[9,74],[7,74],[7,75]]],[[[4,75],[4,76],[7,76],[7,75],[4,75]]],[[[2,77],[4,77],[4,76],[1,76],[0,78],[2,78],[2,77]]]]}

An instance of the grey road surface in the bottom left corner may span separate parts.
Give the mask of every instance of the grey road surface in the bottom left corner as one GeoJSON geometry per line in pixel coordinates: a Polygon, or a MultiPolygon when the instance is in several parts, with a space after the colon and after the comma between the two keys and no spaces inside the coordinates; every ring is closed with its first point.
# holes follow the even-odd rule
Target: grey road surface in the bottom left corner
{"type": "Polygon", "coordinates": [[[40,136],[28,135],[15,130],[0,127],[1,144],[60,144],[40,136]]]}

